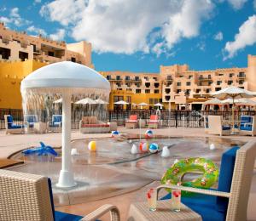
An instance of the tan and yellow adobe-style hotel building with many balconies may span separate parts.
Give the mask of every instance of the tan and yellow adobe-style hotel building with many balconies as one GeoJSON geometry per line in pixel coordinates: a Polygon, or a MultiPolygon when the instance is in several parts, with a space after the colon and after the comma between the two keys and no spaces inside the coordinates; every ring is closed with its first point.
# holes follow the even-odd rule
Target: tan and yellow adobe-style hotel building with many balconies
{"type": "MultiPolygon", "coordinates": [[[[94,68],[89,42],[56,42],[7,29],[0,23],[0,108],[21,109],[20,82],[36,69],[62,60],[94,68]]],[[[98,70],[97,70],[98,71],[98,70]]],[[[131,103],[162,103],[172,109],[201,109],[212,92],[231,85],[256,91],[256,56],[247,67],[192,71],[189,65],[160,65],[159,73],[99,71],[111,83],[109,109],[123,99],[131,103]]],[[[75,74],[75,73],[74,73],[75,74]]],[[[149,106],[149,108],[150,108],[149,106]]],[[[127,105],[124,108],[131,108],[127,105]]]]}

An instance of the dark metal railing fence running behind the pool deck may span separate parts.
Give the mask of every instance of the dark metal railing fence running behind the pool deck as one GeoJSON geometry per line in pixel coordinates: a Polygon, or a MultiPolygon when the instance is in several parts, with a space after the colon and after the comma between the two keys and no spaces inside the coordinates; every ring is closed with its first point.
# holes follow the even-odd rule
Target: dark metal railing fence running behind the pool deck
{"type": "MultiPolygon", "coordinates": [[[[54,114],[61,114],[61,111],[55,111],[54,114]]],[[[119,126],[125,125],[125,121],[131,115],[137,115],[138,118],[148,122],[151,115],[158,115],[163,127],[204,127],[204,116],[219,115],[224,120],[230,120],[232,111],[156,111],[156,110],[127,110],[127,111],[108,111],[108,122],[117,122],[119,126]]],[[[15,109],[0,109],[0,129],[5,128],[4,115],[11,115],[14,122],[23,122],[23,111],[15,109]]],[[[236,111],[235,120],[239,120],[241,116],[256,115],[256,111],[236,111]]],[[[49,118],[44,111],[40,117],[42,122],[48,122],[49,118]]],[[[72,128],[79,128],[79,120],[81,113],[73,111],[72,128]]]]}

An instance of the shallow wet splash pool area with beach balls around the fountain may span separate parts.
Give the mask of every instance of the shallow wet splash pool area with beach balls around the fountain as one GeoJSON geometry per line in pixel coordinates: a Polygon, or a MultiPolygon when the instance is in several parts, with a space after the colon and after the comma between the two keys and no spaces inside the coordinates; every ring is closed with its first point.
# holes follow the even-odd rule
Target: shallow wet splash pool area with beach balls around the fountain
{"type": "MultiPolygon", "coordinates": [[[[56,206],[95,201],[113,195],[137,190],[154,180],[160,180],[166,169],[177,159],[203,157],[220,166],[221,156],[231,146],[243,144],[240,141],[223,138],[172,138],[172,139],[95,139],[96,152],[88,150],[91,139],[72,142],[79,156],[72,156],[74,178],[78,185],[73,188],[55,187],[61,169],[61,156],[12,156],[25,164],[12,168],[23,173],[42,174],[51,178],[56,206]],[[168,146],[171,156],[162,158],[160,153],[131,155],[131,145],[140,142],[159,144],[160,150],[168,146]],[[210,150],[210,144],[216,149],[210,150]]],[[[61,152],[61,149],[56,149],[61,152]]]]}

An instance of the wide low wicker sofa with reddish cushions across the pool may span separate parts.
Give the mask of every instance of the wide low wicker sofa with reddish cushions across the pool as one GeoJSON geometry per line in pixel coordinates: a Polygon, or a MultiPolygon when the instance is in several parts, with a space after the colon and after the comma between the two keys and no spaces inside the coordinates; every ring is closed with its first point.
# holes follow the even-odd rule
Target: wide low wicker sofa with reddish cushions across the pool
{"type": "Polygon", "coordinates": [[[83,116],[79,122],[80,133],[109,133],[110,123],[98,121],[96,116],[83,116]]]}

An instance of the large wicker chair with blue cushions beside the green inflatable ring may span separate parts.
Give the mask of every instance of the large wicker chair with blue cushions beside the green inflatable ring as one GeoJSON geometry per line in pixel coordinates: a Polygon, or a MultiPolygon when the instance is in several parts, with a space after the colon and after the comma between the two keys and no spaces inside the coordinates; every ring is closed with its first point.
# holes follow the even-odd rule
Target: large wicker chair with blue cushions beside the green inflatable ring
{"type": "MultiPolygon", "coordinates": [[[[218,178],[218,190],[203,190],[172,184],[160,185],[163,188],[185,190],[195,195],[182,196],[186,206],[201,214],[207,220],[247,220],[247,202],[253,178],[256,156],[256,142],[249,141],[239,147],[233,147],[222,156],[218,178]]],[[[162,199],[168,199],[168,194],[162,199]]]]}

